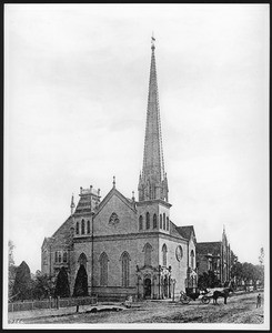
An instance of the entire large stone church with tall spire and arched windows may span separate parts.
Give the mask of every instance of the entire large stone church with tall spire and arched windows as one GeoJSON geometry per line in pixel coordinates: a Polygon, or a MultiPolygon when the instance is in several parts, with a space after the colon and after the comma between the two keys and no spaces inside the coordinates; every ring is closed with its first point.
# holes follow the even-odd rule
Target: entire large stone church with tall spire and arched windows
{"type": "Polygon", "coordinates": [[[114,178],[103,199],[99,189],[80,188],[70,216],[42,243],[42,273],[57,276],[66,268],[71,294],[79,269],[85,271],[88,294],[100,300],[172,297],[197,276],[194,229],[177,226],[170,214],[154,51],[152,39],[138,200],[133,192],[124,196],[114,178]]]}

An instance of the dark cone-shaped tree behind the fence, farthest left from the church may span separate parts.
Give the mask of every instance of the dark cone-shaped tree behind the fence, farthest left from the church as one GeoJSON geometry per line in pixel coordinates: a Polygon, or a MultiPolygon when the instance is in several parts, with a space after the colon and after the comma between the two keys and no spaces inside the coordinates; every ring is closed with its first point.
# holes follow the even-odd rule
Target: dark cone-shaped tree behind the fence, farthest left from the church
{"type": "Polygon", "coordinates": [[[12,291],[13,300],[29,300],[32,297],[32,281],[30,269],[23,261],[16,271],[16,280],[12,291]]]}

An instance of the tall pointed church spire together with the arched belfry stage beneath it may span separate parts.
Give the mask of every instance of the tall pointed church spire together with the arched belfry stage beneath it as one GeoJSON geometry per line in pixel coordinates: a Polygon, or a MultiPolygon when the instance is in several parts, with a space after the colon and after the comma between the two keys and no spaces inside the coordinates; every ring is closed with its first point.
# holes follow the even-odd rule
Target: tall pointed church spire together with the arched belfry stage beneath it
{"type": "Polygon", "coordinates": [[[143,164],[138,184],[138,214],[143,221],[139,232],[170,233],[170,208],[168,179],[164,171],[159,92],[155,69],[154,38],[151,41],[148,110],[143,149],[143,164]],[[150,228],[150,216],[153,216],[150,228]]]}

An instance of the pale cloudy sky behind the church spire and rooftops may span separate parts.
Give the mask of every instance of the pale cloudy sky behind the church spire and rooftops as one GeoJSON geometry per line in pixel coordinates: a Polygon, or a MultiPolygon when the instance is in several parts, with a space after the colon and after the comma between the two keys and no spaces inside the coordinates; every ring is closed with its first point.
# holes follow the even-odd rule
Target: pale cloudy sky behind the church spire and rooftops
{"type": "Polygon", "coordinates": [[[6,4],[4,241],[41,245],[80,186],[137,193],[151,36],[170,218],[269,253],[269,4],[6,4]]]}

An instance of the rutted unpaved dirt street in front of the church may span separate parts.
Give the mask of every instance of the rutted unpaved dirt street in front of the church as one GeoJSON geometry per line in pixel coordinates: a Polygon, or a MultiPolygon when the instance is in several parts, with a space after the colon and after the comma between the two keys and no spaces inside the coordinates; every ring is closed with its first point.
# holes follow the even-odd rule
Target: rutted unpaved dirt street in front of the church
{"type": "MultiPolygon", "coordinates": [[[[188,305],[171,301],[144,301],[132,309],[24,319],[21,323],[263,323],[263,305],[255,306],[256,293],[232,295],[228,304],[202,304],[200,300],[188,305]]],[[[262,293],[263,299],[263,293],[262,293]]]]}

